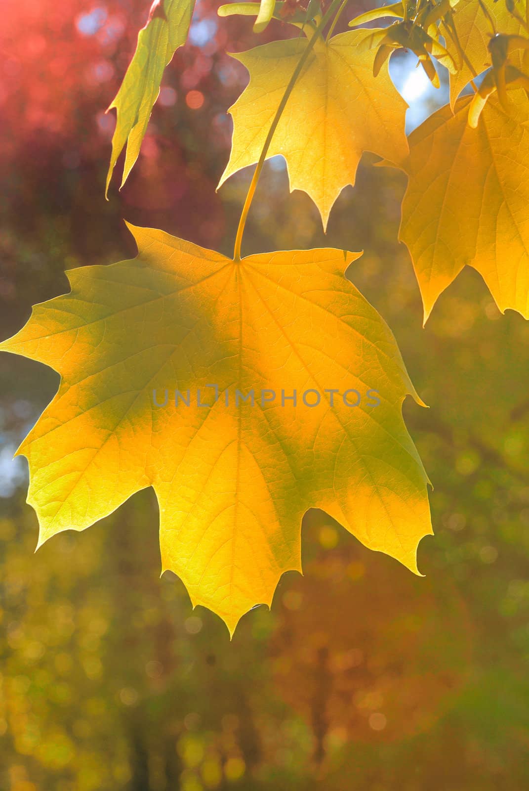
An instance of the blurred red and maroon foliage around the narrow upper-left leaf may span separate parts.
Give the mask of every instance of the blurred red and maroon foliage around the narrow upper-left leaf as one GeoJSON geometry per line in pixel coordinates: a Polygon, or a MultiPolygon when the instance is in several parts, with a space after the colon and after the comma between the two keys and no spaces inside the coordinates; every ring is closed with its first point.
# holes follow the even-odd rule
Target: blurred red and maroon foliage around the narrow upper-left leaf
{"type": "Polygon", "coordinates": [[[60,216],[66,225],[61,243],[81,259],[96,252],[94,230],[101,244],[122,215],[139,224],[185,229],[187,237],[204,244],[221,239],[224,220],[214,190],[229,146],[225,111],[244,74],[225,50],[240,48],[239,31],[251,34],[251,25],[220,22],[217,5],[210,2],[200,4],[190,43],[164,75],[161,102],[130,183],[118,199],[116,174],[111,205],[104,203],[115,125],[113,113],[105,110],[149,5],[145,0],[2,3],[0,175],[6,191],[0,209],[16,234],[37,244],[46,236],[45,226],[56,225],[60,216]],[[190,92],[195,100],[186,102],[190,92]]]}

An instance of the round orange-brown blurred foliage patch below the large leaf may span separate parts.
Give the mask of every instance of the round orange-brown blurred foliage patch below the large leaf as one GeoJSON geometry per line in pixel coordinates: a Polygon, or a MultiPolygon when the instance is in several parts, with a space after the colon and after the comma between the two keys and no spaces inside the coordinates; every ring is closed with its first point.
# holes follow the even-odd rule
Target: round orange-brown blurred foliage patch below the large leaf
{"type": "Polygon", "coordinates": [[[466,680],[470,619],[445,579],[414,577],[349,545],[305,563],[279,613],[275,683],[312,723],[317,761],[329,740],[379,743],[431,729],[466,680]]]}

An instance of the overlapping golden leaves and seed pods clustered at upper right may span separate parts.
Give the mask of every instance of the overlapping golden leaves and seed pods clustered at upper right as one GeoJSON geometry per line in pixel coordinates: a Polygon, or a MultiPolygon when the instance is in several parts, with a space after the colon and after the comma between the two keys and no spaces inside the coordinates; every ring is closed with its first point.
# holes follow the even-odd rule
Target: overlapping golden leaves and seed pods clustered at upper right
{"type": "MultiPolygon", "coordinates": [[[[502,311],[529,317],[527,7],[524,0],[412,0],[361,14],[350,25],[395,21],[319,41],[270,146],[270,156],[285,157],[291,189],[316,202],[323,225],[342,187],[354,184],[362,151],[407,173],[400,238],[425,319],[466,264],[482,274],[502,311]],[[450,73],[450,106],[407,142],[404,104],[384,68],[397,49],[414,52],[433,85],[436,63],[450,73]],[[466,88],[474,97],[458,100],[466,88]]],[[[236,56],[250,84],[230,109],[233,145],[221,184],[258,161],[261,124],[292,73],[293,51],[304,46],[274,42],[236,56]]]]}

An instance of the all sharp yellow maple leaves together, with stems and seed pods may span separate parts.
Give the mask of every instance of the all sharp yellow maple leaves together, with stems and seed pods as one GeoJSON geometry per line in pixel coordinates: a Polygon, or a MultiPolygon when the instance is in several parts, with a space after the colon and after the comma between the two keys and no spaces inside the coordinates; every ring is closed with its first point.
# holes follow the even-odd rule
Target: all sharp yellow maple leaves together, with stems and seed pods
{"type": "MultiPolygon", "coordinates": [[[[465,265],[502,311],[529,317],[527,3],[405,0],[334,35],[345,8],[261,0],[220,9],[256,16],[258,33],[272,19],[297,28],[234,56],[250,81],[229,110],[232,150],[219,186],[258,167],[232,259],[133,229],[137,259],[70,272],[71,292],[36,306],[2,343],[62,377],[20,450],[40,543],[153,486],[163,568],[230,630],[253,605],[270,604],[285,570],[300,569],[300,521],[312,506],[414,571],[418,541],[431,532],[427,478],[401,414],[414,388],[391,331],[344,277],[357,254],[241,259],[263,161],[285,158],[291,190],[307,192],[327,226],[362,154],[378,154],[409,177],[400,237],[425,317],[465,265]],[[358,28],[379,19],[379,28],[358,28]],[[387,66],[399,49],[417,55],[435,86],[439,65],[450,72],[450,104],[409,139],[387,66]],[[469,85],[474,96],[458,99],[469,85]],[[376,392],[376,408],[366,392],[376,392]]],[[[153,3],[111,104],[108,183],[124,147],[123,183],[134,166],[192,10],[190,0],[153,3]]]]}

